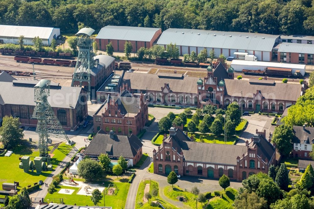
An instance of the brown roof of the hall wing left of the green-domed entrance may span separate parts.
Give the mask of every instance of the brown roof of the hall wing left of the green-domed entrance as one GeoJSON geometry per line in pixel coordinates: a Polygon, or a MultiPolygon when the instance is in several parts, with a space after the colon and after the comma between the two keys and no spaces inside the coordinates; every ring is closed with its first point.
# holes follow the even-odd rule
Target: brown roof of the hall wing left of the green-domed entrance
{"type": "Polygon", "coordinates": [[[124,73],[121,84],[127,84],[132,89],[161,91],[161,87],[168,83],[172,92],[194,93],[197,94],[197,77],[182,76],[159,77],[156,74],[146,73],[124,73]]]}

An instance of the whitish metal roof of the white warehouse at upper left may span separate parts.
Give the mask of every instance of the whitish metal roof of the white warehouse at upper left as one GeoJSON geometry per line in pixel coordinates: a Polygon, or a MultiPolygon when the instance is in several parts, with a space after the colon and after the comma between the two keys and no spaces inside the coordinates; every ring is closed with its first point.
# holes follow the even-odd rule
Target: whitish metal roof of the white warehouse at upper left
{"type": "Polygon", "coordinates": [[[34,38],[39,36],[41,39],[49,39],[53,28],[35,27],[35,26],[18,26],[18,25],[0,25],[0,36],[34,38]]]}

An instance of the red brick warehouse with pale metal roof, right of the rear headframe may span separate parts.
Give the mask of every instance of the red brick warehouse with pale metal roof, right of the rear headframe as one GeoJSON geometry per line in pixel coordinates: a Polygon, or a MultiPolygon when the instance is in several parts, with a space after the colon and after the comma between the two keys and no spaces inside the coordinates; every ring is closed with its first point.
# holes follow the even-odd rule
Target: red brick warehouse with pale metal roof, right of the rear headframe
{"type": "Polygon", "coordinates": [[[141,47],[152,47],[160,35],[160,28],[107,25],[96,36],[96,43],[101,51],[106,51],[106,45],[111,42],[114,51],[123,52],[125,42],[130,41],[133,52],[136,52],[141,47]]]}

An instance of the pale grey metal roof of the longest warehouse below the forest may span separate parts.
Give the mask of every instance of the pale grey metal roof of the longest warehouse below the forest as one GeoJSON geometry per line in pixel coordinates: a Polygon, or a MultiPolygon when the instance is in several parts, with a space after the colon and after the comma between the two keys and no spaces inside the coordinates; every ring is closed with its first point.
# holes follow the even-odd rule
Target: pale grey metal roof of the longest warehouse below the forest
{"type": "Polygon", "coordinates": [[[279,35],[170,28],[161,34],[157,44],[172,42],[177,46],[272,51],[278,37],[279,35]]]}

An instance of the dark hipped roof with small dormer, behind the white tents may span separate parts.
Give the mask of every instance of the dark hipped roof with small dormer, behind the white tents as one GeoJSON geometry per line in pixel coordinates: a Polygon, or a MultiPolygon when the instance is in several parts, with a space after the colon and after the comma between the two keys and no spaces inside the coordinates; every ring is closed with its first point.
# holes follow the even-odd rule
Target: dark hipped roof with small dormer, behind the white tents
{"type": "Polygon", "coordinates": [[[90,141],[89,146],[85,149],[85,155],[98,156],[101,153],[108,153],[111,156],[123,156],[124,158],[133,158],[138,150],[143,146],[142,142],[134,134],[130,137],[114,134],[113,139],[110,134],[100,130],[90,141]],[[110,152],[107,152],[110,148],[110,152]]]}

